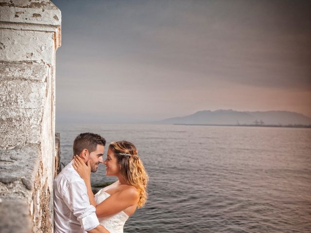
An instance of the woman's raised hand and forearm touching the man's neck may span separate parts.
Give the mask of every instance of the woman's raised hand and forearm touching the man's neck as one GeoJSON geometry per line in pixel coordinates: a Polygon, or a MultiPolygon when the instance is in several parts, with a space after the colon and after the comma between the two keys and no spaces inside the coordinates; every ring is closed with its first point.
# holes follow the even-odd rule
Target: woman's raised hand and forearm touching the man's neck
{"type": "Polygon", "coordinates": [[[92,191],[92,186],[91,186],[91,164],[90,160],[86,164],[83,162],[83,160],[78,156],[75,155],[73,157],[73,168],[78,172],[78,174],[81,176],[81,178],[84,180],[86,183],[86,189],[87,189],[87,196],[89,199],[89,203],[96,207],[96,202],[94,198],[94,194],[92,191]]]}

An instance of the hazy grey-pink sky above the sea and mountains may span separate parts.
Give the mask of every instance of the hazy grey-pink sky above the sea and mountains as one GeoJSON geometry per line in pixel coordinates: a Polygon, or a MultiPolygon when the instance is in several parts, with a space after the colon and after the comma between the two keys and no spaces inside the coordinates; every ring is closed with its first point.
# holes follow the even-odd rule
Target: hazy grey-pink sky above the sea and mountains
{"type": "Polygon", "coordinates": [[[52,0],[56,123],[201,110],[311,117],[311,0],[52,0]]]}

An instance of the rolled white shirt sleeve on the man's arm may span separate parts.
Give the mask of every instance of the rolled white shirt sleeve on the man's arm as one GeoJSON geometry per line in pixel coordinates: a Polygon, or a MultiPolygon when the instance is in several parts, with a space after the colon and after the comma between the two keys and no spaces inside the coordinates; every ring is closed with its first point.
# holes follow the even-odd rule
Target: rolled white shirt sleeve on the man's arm
{"type": "Polygon", "coordinates": [[[85,232],[99,225],[95,213],[96,208],[89,203],[86,185],[82,179],[68,183],[67,189],[63,193],[63,200],[73,215],[77,217],[85,232]]]}

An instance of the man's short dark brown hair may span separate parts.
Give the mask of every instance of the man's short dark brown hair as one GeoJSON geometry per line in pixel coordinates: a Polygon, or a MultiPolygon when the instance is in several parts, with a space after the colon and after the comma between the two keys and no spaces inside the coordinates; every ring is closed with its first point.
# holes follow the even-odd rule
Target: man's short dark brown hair
{"type": "Polygon", "coordinates": [[[97,145],[106,145],[106,139],[96,133],[80,133],[73,141],[73,156],[87,149],[89,153],[96,150],[97,145]]]}

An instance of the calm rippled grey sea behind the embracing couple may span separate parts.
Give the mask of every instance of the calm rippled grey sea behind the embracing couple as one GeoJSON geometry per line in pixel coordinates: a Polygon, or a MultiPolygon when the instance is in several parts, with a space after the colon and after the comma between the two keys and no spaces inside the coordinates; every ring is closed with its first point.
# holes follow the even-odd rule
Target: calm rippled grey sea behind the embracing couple
{"type": "MultiPolygon", "coordinates": [[[[65,164],[78,133],[137,146],[150,176],[149,199],[124,232],[311,232],[311,129],[103,124],[56,130],[65,164]]],[[[111,181],[103,165],[92,177],[111,181]]]]}

